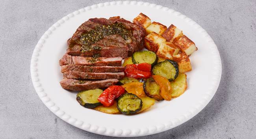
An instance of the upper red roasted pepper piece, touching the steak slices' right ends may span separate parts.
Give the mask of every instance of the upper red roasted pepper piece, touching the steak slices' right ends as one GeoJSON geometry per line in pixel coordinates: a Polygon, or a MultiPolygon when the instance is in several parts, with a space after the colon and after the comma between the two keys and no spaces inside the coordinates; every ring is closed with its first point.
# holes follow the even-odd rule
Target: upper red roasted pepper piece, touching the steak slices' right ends
{"type": "Polygon", "coordinates": [[[129,64],[124,67],[124,75],[131,78],[149,78],[151,76],[151,65],[148,63],[129,64]]]}

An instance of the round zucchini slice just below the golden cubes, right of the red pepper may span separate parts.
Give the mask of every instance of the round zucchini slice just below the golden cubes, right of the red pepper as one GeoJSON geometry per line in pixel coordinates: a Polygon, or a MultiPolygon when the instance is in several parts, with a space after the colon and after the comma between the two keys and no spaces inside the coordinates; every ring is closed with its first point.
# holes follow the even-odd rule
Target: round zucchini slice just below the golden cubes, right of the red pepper
{"type": "Polygon", "coordinates": [[[173,60],[165,60],[156,64],[152,69],[153,75],[160,75],[173,81],[179,74],[178,63],[173,60]]]}

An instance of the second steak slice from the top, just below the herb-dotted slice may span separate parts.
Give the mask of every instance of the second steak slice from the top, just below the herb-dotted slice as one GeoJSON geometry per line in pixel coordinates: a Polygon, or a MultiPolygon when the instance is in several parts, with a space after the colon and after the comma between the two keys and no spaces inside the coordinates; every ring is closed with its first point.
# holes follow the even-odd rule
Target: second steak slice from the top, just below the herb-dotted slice
{"type": "Polygon", "coordinates": [[[91,67],[91,66],[83,66],[83,65],[63,65],[61,66],[61,72],[68,71],[78,71],[78,72],[122,72],[124,71],[124,67],[112,67],[112,66],[101,66],[101,67],[91,67]]]}

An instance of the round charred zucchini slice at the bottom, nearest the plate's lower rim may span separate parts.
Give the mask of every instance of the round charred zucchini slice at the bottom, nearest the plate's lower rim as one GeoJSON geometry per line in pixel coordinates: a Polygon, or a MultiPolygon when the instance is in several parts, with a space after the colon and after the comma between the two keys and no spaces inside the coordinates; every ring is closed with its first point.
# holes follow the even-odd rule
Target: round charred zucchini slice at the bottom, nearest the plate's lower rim
{"type": "Polygon", "coordinates": [[[135,94],[126,93],[117,99],[117,108],[122,114],[135,114],[141,107],[142,100],[135,94]]]}

